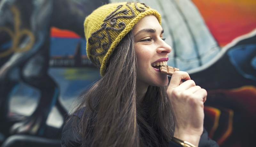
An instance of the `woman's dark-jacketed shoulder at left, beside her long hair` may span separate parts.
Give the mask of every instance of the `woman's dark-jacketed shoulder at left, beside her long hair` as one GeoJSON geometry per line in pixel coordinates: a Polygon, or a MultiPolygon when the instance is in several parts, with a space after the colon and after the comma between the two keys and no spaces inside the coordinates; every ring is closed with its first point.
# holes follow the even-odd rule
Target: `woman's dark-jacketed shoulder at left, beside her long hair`
{"type": "Polygon", "coordinates": [[[61,132],[61,147],[79,147],[82,144],[81,136],[76,132],[74,124],[78,124],[84,109],[76,114],[69,116],[61,132]]]}

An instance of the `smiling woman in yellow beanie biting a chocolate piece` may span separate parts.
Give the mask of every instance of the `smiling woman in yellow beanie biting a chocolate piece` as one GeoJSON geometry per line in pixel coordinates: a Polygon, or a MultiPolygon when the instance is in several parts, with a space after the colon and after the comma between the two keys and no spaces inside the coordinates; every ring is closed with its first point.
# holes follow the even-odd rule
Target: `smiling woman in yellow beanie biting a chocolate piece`
{"type": "Polygon", "coordinates": [[[103,5],[86,17],[84,32],[102,78],[65,125],[62,146],[198,146],[200,137],[204,146],[218,146],[201,136],[206,91],[186,72],[174,72],[169,85],[159,72],[172,48],[156,10],[136,2],[103,5]]]}

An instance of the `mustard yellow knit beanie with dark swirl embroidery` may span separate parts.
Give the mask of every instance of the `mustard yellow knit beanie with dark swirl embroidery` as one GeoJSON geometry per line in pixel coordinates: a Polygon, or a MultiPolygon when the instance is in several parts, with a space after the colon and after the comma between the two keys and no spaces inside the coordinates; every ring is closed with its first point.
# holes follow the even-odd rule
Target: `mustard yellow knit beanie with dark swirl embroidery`
{"type": "Polygon", "coordinates": [[[161,24],[160,14],[144,3],[122,2],[103,5],[84,21],[86,53],[104,76],[109,57],[118,43],[143,17],[154,15],[161,24]]]}

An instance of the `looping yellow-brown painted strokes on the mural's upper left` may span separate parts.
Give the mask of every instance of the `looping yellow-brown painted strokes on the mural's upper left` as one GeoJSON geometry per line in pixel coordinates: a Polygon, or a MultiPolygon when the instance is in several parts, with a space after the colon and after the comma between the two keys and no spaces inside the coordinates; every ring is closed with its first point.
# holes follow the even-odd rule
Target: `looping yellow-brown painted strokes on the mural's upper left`
{"type": "Polygon", "coordinates": [[[20,30],[20,23],[21,23],[20,11],[15,6],[11,7],[11,11],[14,16],[14,32],[7,27],[0,27],[0,32],[3,31],[3,32],[6,32],[8,35],[10,35],[12,39],[12,46],[8,50],[4,51],[3,53],[0,53],[0,58],[8,56],[14,52],[28,51],[29,49],[32,48],[32,46],[35,43],[35,36],[30,30],[28,29],[20,30]],[[30,38],[29,43],[26,44],[26,46],[24,47],[19,46],[22,36],[28,36],[30,38]]]}

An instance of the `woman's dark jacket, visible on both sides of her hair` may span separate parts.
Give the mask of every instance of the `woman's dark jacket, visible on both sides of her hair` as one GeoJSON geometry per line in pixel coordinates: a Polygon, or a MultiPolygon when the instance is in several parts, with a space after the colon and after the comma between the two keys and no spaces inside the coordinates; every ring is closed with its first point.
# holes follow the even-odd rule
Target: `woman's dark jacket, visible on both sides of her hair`
{"type": "MultiPolygon", "coordinates": [[[[71,123],[75,119],[75,117],[81,118],[82,113],[77,115],[73,115],[71,120],[69,120],[62,129],[61,133],[61,147],[80,147],[81,146],[81,138],[74,134],[71,123]]],[[[174,143],[172,141],[169,142],[169,147],[181,147],[179,144],[174,143]]],[[[204,129],[204,132],[199,141],[199,147],[219,147],[219,145],[208,137],[207,131],[204,129]]]]}

